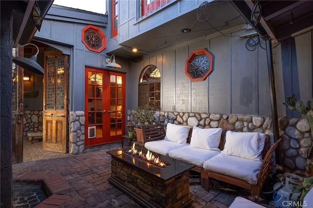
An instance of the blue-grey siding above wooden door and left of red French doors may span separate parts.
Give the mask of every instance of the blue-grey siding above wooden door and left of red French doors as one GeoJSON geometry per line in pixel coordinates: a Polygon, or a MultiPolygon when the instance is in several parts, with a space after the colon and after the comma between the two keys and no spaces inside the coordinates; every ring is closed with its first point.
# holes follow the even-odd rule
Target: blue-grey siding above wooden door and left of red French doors
{"type": "MultiPolygon", "coordinates": [[[[40,32],[34,40],[44,42],[69,55],[69,110],[84,111],[85,108],[85,67],[106,67],[106,49],[98,52],[89,51],[82,42],[82,30],[89,24],[101,28],[107,36],[107,15],[52,5],[43,22],[40,32]],[[57,32],[56,32],[57,31],[57,32]]],[[[108,36],[107,36],[108,37],[108,36]]],[[[115,57],[122,65],[119,72],[126,73],[128,62],[115,57]]]]}

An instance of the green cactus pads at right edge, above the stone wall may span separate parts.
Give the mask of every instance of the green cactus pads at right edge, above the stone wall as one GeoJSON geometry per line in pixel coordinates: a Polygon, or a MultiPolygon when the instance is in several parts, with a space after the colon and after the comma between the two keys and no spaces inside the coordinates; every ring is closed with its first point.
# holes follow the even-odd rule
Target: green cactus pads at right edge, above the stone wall
{"type": "Polygon", "coordinates": [[[292,96],[287,97],[287,104],[283,103],[286,107],[291,110],[296,110],[303,115],[307,115],[310,110],[313,110],[313,98],[305,104],[303,101],[298,101],[297,96],[292,94],[292,96]]]}

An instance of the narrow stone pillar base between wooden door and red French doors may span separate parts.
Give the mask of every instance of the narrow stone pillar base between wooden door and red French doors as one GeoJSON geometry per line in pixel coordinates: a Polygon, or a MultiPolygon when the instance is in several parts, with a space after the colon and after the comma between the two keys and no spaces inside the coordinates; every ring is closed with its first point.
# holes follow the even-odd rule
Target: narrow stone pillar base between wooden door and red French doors
{"type": "Polygon", "coordinates": [[[85,149],[85,112],[69,112],[69,154],[80,154],[85,149]]]}

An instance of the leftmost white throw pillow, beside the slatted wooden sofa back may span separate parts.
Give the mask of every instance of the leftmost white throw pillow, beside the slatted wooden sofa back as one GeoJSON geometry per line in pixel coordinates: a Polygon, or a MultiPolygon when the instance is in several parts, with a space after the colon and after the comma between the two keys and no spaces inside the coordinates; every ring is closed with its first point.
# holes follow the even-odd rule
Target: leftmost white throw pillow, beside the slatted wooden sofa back
{"type": "Polygon", "coordinates": [[[168,123],[166,126],[165,140],[176,142],[178,144],[186,144],[189,134],[190,126],[188,125],[175,125],[168,123]]]}

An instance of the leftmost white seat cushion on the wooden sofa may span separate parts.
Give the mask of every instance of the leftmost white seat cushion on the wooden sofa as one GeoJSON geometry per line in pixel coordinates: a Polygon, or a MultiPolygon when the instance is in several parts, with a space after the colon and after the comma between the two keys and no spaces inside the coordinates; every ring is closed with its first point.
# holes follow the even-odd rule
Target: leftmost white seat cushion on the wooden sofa
{"type": "Polygon", "coordinates": [[[179,144],[166,140],[157,140],[145,143],[146,149],[166,156],[168,156],[169,151],[171,151],[172,149],[177,149],[183,146],[189,146],[189,144],[179,144]]]}

